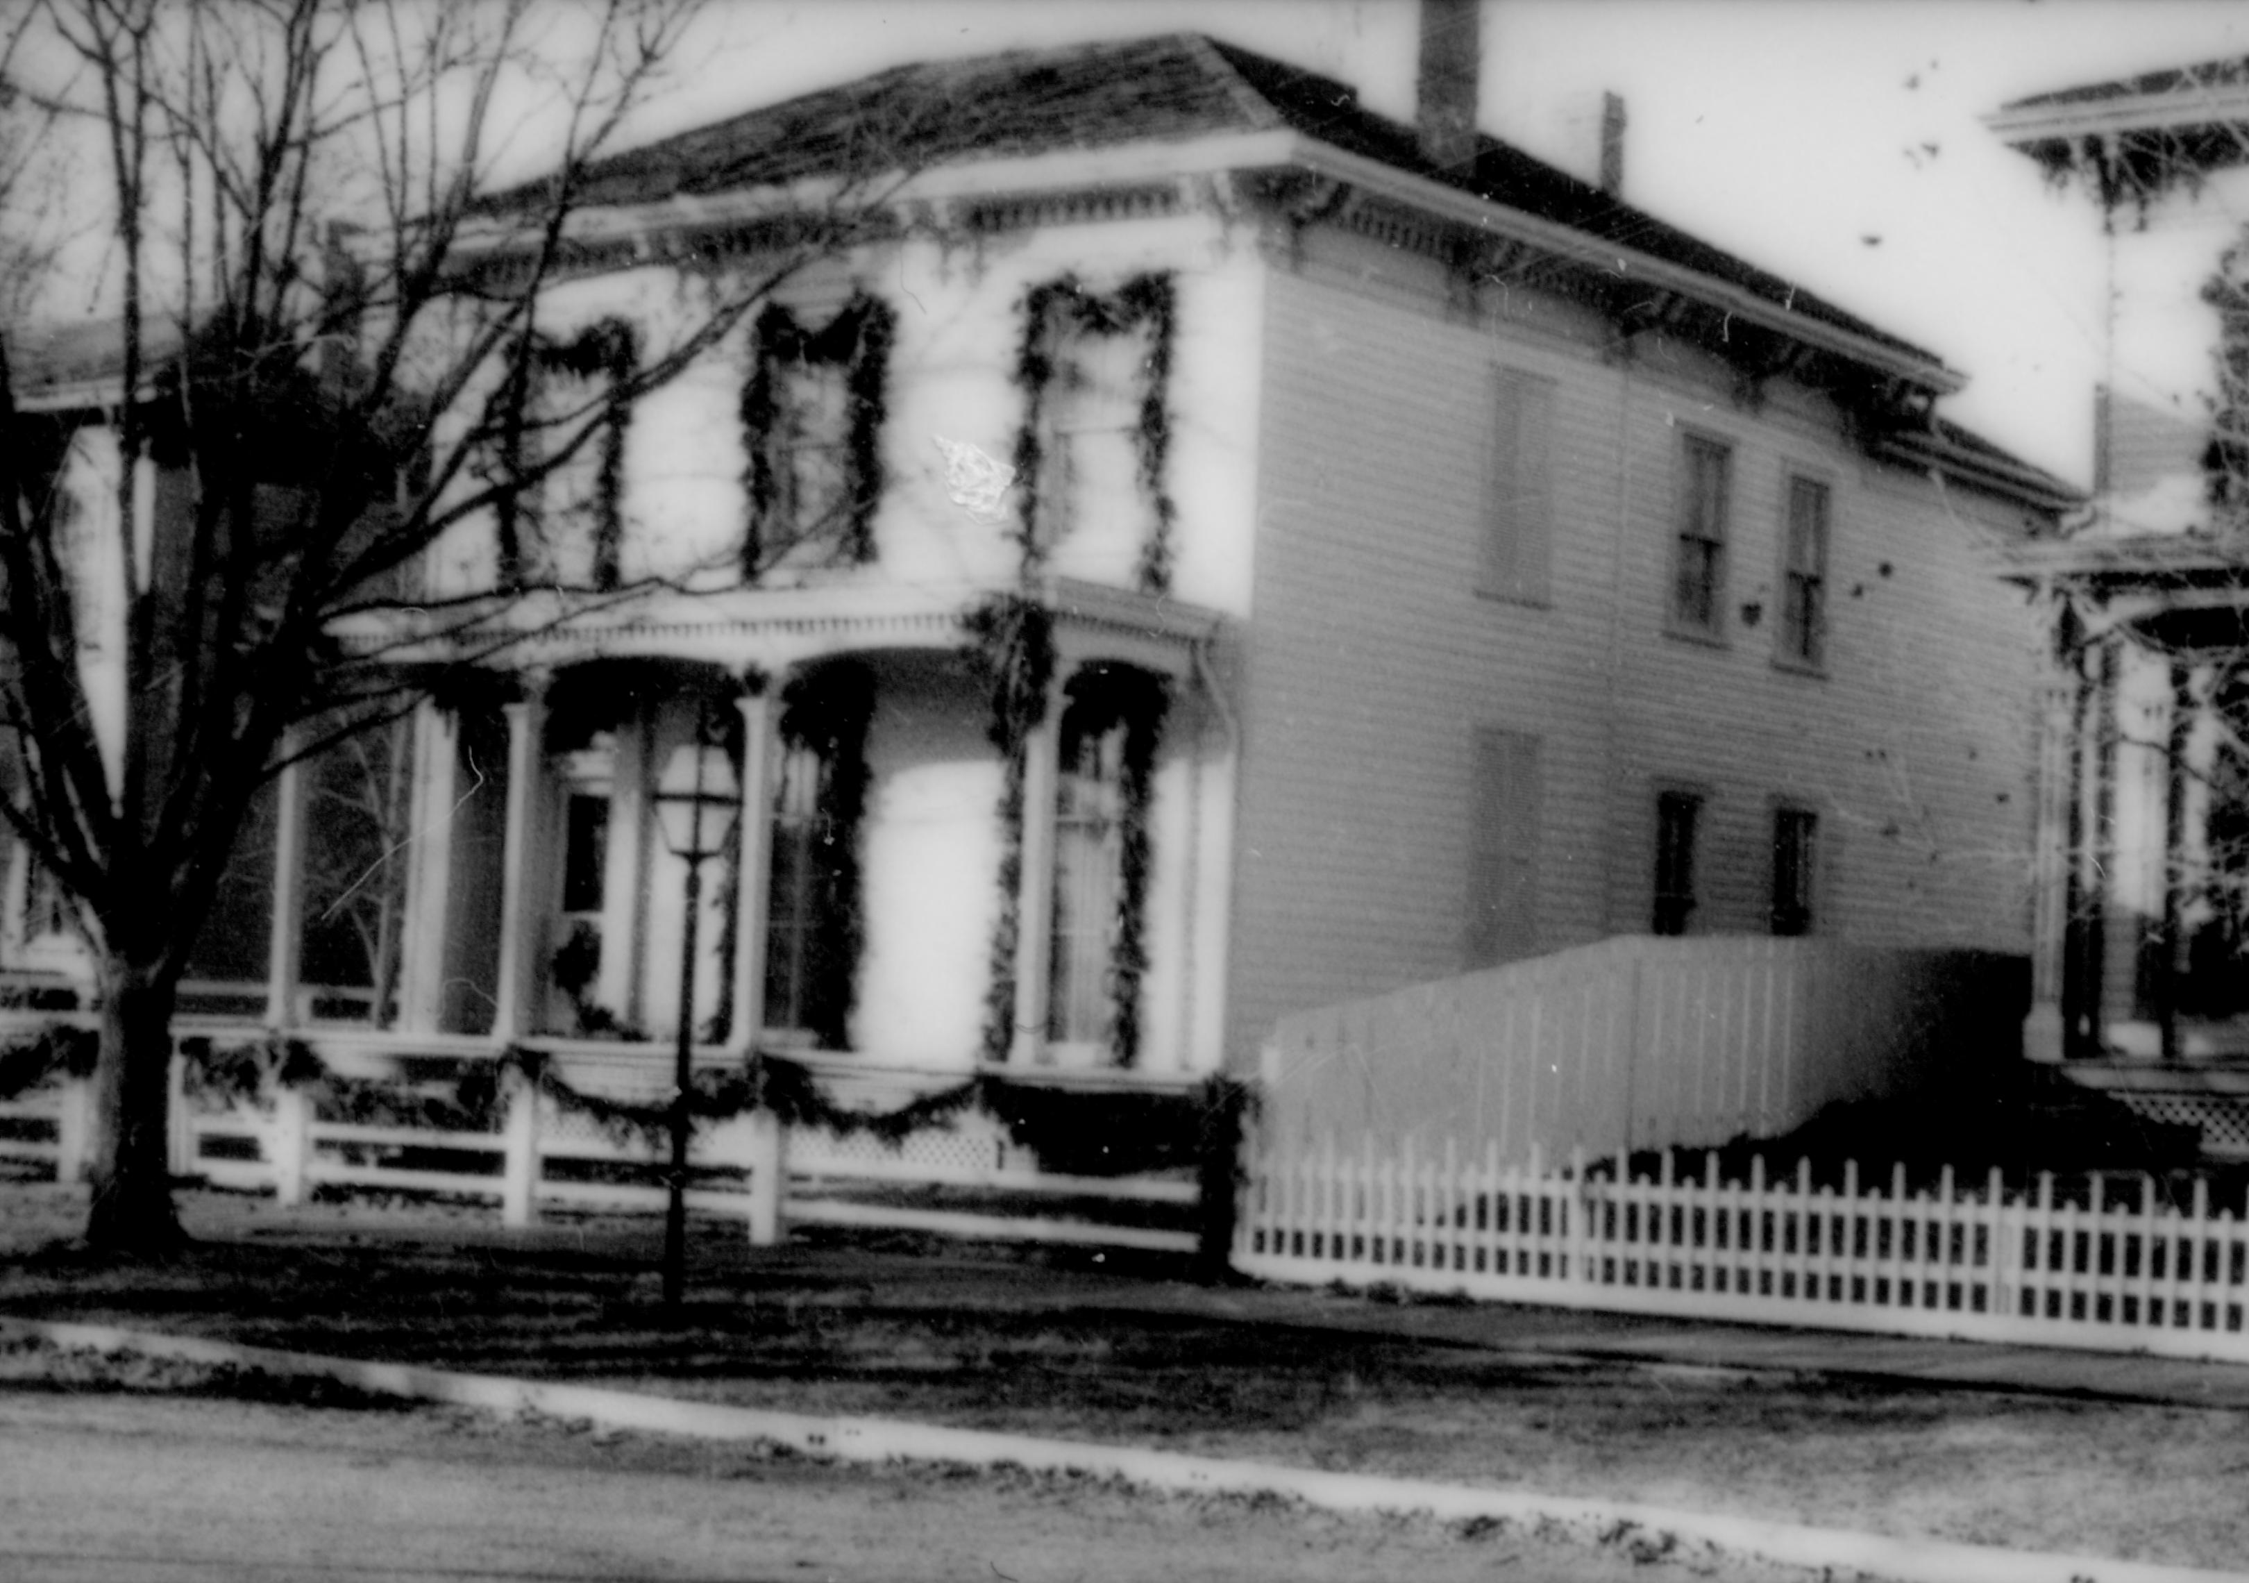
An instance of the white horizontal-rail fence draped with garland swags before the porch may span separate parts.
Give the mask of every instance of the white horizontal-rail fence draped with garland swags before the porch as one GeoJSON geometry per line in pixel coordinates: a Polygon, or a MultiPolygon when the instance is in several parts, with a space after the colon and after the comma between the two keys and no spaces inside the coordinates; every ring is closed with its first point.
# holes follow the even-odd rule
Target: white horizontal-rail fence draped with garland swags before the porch
{"type": "MultiPolygon", "coordinates": [[[[855,1079],[888,1077],[891,1086],[927,1075],[857,1068],[855,1079]]],[[[645,1102],[650,1095],[627,1095],[645,1102]]],[[[56,1084],[0,1104],[0,1158],[43,1163],[61,1181],[76,1181],[85,1149],[85,1086],[56,1084]]],[[[272,1192],[301,1203],[317,1189],[436,1194],[486,1201],[502,1223],[531,1225],[542,1210],[661,1212],[657,1185],[663,1140],[609,1136],[582,1115],[569,1115],[515,1084],[499,1131],[434,1131],[324,1120],[310,1097],[283,1088],[268,1104],[202,1109],[184,1088],[173,1061],[171,1167],[175,1176],[214,1187],[272,1192]]],[[[819,1129],[787,1129],[771,1113],[751,1111],[717,1127],[702,1127],[690,1151],[704,1178],[686,1194],[697,1212],[738,1216],[751,1243],[774,1243],[787,1225],[870,1225],[945,1237],[983,1237],[1041,1243],[1084,1243],[1194,1252],[1196,1234],[1165,1225],[1116,1223],[1086,1214],[1116,1205],[1129,1219],[1145,1205],[1163,1216],[1192,1219],[1199,1187],[1181,1176],[1062,1176],[1012,1145],[981,1115],[963,1115],[891,1147],[873,1138],[839,1138],[819,1129]],[[942,1205],[913,1203],[915,1189],[942,1189],[942,1205]],[[976,1207],[976,1203],[992,1207],[976,1207]],[[1026,1212],[1026,1203],[1057,1203],[1075,1212],[1026,1212]]],[[[922,1194],[927,1196],[927,1194],[922,1194]]]]}

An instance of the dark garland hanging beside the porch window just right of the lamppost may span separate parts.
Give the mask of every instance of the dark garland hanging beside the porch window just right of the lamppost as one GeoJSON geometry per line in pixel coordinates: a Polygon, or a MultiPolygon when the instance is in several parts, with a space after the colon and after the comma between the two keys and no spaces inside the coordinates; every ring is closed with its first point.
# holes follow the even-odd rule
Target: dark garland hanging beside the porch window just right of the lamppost
{"type": "Polygon", "coordinates": [[[780,740],[821,760],[814,825],[819,904],[812,908],[810,983],[803,1025],[830,1050],[848,1048],[866,913],[859,877],[859,823],[866,814],[866,733],[875,720],[875,672],[839,659],[796,677],[780,697],[780,740]]]}

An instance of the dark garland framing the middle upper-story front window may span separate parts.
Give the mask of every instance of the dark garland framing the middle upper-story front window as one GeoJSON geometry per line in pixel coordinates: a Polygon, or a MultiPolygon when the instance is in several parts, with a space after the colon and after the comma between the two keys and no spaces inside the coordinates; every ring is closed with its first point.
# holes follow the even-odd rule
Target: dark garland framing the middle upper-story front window
{"type": "Polygon", "coordinates": [[[785,362],[843,369],[848,418],[843,425],[843,490],[848,499],[841,562],[864,567],[875,560],[875,508],[882,504],[882,427],[888,416],[891,340],[897,313],[868,292],[855,292],[821,331],[805,331],[780,304],[758,315],[751,331],[749,382],[742,387],[742,445],[749,470],[749,524],[742,535],[742,576],[765,571],[765,558],[787,544],[771,544],[774,508],[780,495],[774,470],[774,429],[780,398],[774,380],[785,362]]]}

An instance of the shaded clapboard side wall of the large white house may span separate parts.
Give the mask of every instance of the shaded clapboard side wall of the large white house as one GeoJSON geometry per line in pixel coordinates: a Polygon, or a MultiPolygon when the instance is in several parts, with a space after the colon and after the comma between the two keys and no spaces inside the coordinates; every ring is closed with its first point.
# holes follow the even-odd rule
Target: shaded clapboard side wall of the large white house
{"type": "Polygon", "coordinates": [[[1469,304],[1367,238],[1304,238],[1266,304],[1237,1050],[1291,1007],[1649,931],[1664,792],[1698,800],[1689,931],[1772,929],[1799,809],[1815,933],[2024,947],[2038,625],[1979,560],[2017,517],[1867,461],[1808,391],[1741,405],[1691,353],[1520,288],[1469,304]],[[1552,380],[1545,598],[1480,591],[1500,376],[1552,380]],[[1714,632],[1680,634],[1689,434],[1727,452],[1725,571],[1714,632]],[[1817,668],[1777,661],[1790,477],[1828,501],[1817,668]]]}

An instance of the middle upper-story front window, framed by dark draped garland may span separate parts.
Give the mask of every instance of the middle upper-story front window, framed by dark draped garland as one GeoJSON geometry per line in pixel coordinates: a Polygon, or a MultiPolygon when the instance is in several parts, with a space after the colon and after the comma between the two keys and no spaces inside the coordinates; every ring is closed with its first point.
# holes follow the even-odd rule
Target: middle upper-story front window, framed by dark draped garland
{"type": "Polygon", "coordinates": [[[742,387],[747,578],[875,558],[893,326],[888,304],[866,292],[816,331],[778,304],[758,317],[742,387]]]}

